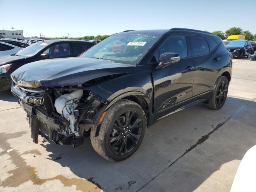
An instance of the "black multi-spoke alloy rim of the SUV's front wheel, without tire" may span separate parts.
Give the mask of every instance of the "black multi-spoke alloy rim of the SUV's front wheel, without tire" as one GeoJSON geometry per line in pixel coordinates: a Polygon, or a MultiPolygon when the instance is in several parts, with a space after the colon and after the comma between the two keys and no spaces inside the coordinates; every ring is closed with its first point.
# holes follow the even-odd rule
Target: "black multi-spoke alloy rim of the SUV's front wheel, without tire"
{"type": "Polygon", "coordinates": [[[138,112],[128,110],[120,114],[112,124],[109,135],[109,146],[116,155],[124,155],[132,151],[138,144],[142,134],[142,118],[138,112]]]}

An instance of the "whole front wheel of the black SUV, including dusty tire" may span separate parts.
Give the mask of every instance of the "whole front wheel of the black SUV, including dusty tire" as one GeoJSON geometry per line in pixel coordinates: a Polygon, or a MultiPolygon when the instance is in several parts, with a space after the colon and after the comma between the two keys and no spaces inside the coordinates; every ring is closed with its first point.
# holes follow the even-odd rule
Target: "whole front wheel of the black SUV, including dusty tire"
{"type": "Polygon", "coordinates": [[[99,118],[90,136],[92,146],[99,155],[110,161],[122,161],[136,152],[146,132],[146,115],[140,105],[122,99],[107,110],[102,124],[99,118]],[[100,130],[95,136],[98,126],[100,130]]]}

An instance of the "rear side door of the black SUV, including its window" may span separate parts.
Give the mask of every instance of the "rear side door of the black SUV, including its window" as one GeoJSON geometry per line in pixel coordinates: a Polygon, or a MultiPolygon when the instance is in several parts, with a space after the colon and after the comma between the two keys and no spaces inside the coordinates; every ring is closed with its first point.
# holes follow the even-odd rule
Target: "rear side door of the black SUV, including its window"
{"type": "Polygon", "coordinates": [[[194,100],[208,99],[214,89],[219,67],[222,66],[220,63],[226,58],[217,51],[218,43],[212,38],[190,36],[190,42],[195,66],[193,97],[194,100]]]}

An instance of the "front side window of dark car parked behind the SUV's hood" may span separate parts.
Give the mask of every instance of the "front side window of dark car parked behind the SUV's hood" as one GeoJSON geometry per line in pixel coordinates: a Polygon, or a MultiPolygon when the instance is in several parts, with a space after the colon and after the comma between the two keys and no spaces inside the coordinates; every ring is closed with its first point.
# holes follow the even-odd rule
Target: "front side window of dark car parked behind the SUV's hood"
{"type": "Polygon", "coordinates": [[[49,58],[61,58],[70,56],[70,47],[68,43],[62,43],[50,47],[49,58]]]}

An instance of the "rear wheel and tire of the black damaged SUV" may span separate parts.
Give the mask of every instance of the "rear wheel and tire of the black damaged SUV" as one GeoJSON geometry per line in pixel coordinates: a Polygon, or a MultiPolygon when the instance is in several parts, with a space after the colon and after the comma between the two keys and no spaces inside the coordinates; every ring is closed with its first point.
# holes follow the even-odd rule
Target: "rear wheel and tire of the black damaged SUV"
{"type": "Polygon", "coordinates": [[[228,79],[220,76],[217,80],[212,98],[208,101],[208,108],[218,110],[224,105],[228,95],[228,79]],[[222,88],[223,85],[223,88],[222,88]]]}

